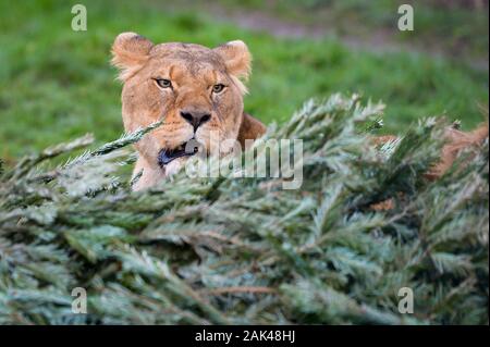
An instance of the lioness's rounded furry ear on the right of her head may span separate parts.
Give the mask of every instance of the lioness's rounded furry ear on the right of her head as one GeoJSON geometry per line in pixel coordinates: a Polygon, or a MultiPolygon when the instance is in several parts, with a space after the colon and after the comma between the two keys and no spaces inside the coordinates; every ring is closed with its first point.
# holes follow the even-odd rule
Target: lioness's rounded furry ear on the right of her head
{"type": "Polygon", "coordinates": [[[244,41],[235,40],[215,48],[226,65],[230,74],[240,78],[247,78],[252,69],[252,55],[244,41]]]}

